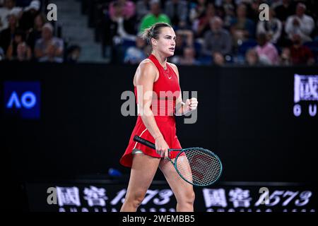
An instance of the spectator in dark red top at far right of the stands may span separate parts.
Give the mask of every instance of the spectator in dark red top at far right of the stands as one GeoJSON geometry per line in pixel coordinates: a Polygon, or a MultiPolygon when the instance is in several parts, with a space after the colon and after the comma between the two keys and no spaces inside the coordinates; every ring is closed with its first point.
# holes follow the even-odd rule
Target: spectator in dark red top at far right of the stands
{"type": "Polygon", "coordinates": [[[300,35],[295,34],[292,37],[293,46],[290,47],[290,58],[293,65],[299,64],[314,64],[314,55],[310,49],[302,45],[302,40],[300,35]]]}

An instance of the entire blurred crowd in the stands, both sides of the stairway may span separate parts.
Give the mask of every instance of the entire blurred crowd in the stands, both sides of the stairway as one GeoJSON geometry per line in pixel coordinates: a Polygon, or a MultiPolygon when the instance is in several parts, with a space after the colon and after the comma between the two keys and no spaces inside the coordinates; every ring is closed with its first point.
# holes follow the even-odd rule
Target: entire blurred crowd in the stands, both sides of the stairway
{"type": "MultiPolygon", "coordinates": [[[[298,0],[72,0],[80,1],[95,41],[111,64],[139,64],[151,48],[141,38],[157,22],[172,25],[180,65],[318,64],[318,1],[298,0]],[[269,20],[259,19],[259,5],[269,20]]],[[[0,60],[76,61],[37,0],[0,0],[0,60]]]]}

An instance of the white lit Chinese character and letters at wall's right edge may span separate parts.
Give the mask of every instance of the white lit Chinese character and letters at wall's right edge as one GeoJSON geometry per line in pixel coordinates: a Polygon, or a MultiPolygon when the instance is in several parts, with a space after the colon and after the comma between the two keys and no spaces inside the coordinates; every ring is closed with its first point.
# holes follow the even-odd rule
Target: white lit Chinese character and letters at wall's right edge
{"type": "Polygon", "coordinates": [[[309,114],[310,117],[317,115],[318,102],[318,76],[298,75],[294,76],[294,115],[309,114]]]}

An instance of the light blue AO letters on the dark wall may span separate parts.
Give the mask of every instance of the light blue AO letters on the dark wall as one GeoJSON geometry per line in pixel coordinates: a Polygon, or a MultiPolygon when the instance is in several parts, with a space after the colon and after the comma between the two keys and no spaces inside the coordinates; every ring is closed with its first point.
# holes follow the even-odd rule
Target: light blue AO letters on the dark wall
{"type": "Polygon", "coordinates": [[[36,103],[37,103],[37,97],[35,93],[31,91],[26,91],[19,98],[16,91],[13,91],[13,93],[8,99],[8,103],[6,104],[6,107],[9,109],[13,107],[16,107],[16,108],[25,107],[26,109],[30,109],[30,108],[33,108],[36,105],[36,103]]]}

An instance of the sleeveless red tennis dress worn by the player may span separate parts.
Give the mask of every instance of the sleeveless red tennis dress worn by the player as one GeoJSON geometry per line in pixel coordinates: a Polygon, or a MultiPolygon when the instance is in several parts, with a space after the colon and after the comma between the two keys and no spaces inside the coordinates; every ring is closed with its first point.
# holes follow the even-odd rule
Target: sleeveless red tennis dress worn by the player
{"type": "MultiPolygon", "coordinates": [[[[163,134],[163,138],[169,148],[181,148],[179,140],[176,136],[175,128],[175,100],[180,94],[179,82],[175,71],[167,64],[167,69],[163,69],[163,66],[159,63],[158,59],[153,54],[148,57],[159,71],[159,78],[153,83],[153,100],[151,102],[151,110],[153,112],[155,121],[160,132],[163,134]],[[155,95],[157,97],[155,97],[155,95]]],[[[136,86],[134,87],[136,103],[137,91],[136,86]]],[[[131,167],[132,165],[132,151],[134,149],[141,150],[143,154],[150,155],[152,157],[160,157],[155,150],[148,148],[146,145],[134,141],[134,136],[140,136],[152,143],[155,143],[155,139],[151,136],[146,126],[141,120],[141,116],[137,117],[136,126],[131,133],[129,144],[126,148],[124,155],[120,159],[120,163],[125,167],[131,167]]],[[[179,152],[171,152],[170,158],[175,158],[179,152]]]]}

